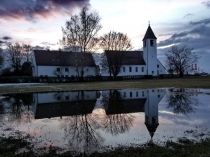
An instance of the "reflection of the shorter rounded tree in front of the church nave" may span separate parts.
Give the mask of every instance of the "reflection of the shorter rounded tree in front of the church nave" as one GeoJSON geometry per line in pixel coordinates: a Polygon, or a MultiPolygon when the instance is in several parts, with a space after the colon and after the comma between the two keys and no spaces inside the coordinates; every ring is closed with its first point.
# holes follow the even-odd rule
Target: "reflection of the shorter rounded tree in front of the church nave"
{"type": "Polygon", "coordinates": [[[134,116],[125,113],[125,101],[119,91],[110,90],[108,94],[103,94],[102,102],[107,115],[104,117],[103,130],[118,135],[129,131],[133,125],[134,116]]]}

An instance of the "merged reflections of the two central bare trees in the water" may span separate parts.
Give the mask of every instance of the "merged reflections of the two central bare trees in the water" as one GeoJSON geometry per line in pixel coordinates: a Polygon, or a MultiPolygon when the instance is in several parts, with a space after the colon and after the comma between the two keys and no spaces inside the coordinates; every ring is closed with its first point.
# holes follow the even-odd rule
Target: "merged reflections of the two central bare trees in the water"
{"type": "Polygon", "coordinates": [[[129,131],[133,125],[134,116],[124,112],[125,102],[117,90],[110,90],[102,98],[101,103],[110,114],[90,113],[83,91],[78,92],[75,103],[75,115],[61,119],[60,126],[64,130],[64,138],[69,140],[69,146],[85,153],[99,149],[104,142],[99,129],[115,136],[129,131]]]}

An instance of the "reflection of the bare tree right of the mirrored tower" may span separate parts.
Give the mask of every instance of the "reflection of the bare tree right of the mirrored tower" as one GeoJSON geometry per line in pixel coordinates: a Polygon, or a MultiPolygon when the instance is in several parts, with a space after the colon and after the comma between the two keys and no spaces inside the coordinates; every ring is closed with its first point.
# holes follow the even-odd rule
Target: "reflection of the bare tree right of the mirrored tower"
{"type": "Polygon", "coordinates": [[[167,97],[168,109],[171,108],[175,114],[189,114],[194,112],[198,105],[198,99],[184,88],[171,88],[167,97]]]}

